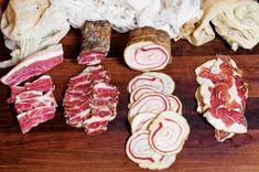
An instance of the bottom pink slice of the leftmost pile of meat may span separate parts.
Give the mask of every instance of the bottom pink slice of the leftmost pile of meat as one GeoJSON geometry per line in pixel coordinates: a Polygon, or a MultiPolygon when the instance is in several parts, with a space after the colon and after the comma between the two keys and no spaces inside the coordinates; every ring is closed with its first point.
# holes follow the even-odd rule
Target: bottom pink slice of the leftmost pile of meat
{"type": "Polygon", "coordinates": [[[37,107],[33,110],[22,112],[17,116],[22,133],[30,131],[33,127],[42,122],[53,119],[55,116],[55,107],[45,106],[37,107]]]}

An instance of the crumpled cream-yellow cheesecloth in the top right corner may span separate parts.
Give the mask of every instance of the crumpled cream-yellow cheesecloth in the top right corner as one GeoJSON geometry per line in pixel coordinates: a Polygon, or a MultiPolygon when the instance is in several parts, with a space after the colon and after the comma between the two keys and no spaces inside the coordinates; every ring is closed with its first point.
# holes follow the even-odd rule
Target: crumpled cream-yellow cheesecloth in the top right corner
{"type": "Polygon", "coordinates": [[[204,15],[186,39],[194,45],[214,40],[215,31],[234,51],[252,49],[259,42],[259,3],[255,0],[205,0],[204,15]]]}

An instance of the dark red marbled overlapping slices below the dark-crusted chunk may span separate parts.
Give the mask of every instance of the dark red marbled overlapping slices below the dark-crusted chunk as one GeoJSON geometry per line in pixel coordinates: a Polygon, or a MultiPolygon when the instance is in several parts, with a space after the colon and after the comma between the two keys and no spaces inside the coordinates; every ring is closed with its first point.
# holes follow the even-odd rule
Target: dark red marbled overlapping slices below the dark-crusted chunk
{"type": "Polygon", "coordinates": [[[88,135],[107,130],[117,115],[119,92],[108,84],[109,73],[100,65],[86,67],[71,78],[63,99],[67,125],[84,128],[88,135]]]}

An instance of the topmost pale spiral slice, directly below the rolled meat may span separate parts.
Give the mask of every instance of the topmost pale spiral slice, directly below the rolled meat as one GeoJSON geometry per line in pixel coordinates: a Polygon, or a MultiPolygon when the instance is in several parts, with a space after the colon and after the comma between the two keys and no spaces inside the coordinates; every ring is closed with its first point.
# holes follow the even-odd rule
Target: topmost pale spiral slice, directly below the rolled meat
{"type": "Polygon", "coordinates": [[[134,89],[150,86],[160,90],[160,93],[170,95],[173,93],[175,84],[174,80],[166,74],[149,72],[138,75],[128,84],[128,92],[131,94],[134,89]]]}

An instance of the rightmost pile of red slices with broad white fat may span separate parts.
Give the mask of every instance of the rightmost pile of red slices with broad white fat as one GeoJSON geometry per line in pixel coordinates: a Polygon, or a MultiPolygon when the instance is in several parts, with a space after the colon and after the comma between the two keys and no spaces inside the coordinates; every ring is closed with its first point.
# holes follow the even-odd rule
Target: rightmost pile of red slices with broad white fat
{"type": "Polygon", "coordinates": [[[195,95],[197,111],[215,128],[217,141],[247,132],[247,84],[230,56],[219,55],[198,66],[195,73],[201,85],[195,95]]]}

